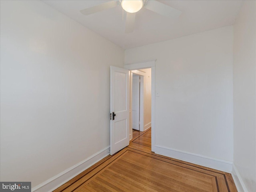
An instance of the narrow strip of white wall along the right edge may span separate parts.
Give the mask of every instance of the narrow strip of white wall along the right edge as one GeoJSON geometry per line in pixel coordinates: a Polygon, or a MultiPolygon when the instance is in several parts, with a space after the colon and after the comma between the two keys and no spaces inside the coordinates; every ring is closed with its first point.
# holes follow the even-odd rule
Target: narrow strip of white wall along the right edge
{"type": "Polygon", "coordinates": [[[255,36],[256,2],[244,1],[234,24],[234,176],[248,192],[256,191],[255,36]]]}

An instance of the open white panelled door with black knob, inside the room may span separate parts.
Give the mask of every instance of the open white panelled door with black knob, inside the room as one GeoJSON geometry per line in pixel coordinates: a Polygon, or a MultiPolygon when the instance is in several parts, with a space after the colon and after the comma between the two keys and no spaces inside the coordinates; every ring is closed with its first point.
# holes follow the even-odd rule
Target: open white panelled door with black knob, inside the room
{"type": "Polygon", "coordinates": [[[129,145],[129,70],[110,66],[110,155],[129,145]]]}

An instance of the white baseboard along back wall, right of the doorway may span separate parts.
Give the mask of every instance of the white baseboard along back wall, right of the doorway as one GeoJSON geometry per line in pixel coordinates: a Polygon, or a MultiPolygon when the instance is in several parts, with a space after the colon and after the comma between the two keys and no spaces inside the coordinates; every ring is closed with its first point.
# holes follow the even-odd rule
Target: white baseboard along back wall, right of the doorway
{"type": "Polygon", "coordinates": [[[156,154],[168,156],[171,158],[176,158],[178,160],[202,165],[205,167],[213,168],[213,169],[228,172],[228,173],[232,172],[232,164],[233,163],[229,162],[229,161],[220,160],[217,158],[211,158],[211,157],[207,157],[207,156],[202,156],[202,155],[198,155],[198,154],[193,154],[193,153],[189,153],[189,152],[184,152],[184,151],[180,151],[180,150],[175,150],[175,149],[171,149],[171,148],[166,148],[166,147],[158,146],[158,145],[154,146],[154,150],[155,150],[154,152],[156,154]]]}

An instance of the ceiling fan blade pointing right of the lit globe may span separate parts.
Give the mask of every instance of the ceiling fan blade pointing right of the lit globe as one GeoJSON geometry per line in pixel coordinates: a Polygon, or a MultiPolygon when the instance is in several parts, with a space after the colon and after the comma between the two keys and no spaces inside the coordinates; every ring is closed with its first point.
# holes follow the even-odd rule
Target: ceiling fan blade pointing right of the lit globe
{"type": "Polygon", "coordinates": [[[180,10],[174,9],[156,0],[148,0],[144,8],[170,18],[178,18],[182,13],[180,10]]]}

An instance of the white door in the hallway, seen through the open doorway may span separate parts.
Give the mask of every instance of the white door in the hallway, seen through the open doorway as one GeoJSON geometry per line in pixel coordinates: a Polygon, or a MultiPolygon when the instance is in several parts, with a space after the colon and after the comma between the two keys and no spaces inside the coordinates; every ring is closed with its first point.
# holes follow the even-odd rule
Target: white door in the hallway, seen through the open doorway
{"type": "Polygon", "coordinates": [[[132,129],[140,130],[140,76],[132,76],[132,129]]]}

